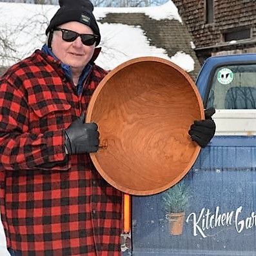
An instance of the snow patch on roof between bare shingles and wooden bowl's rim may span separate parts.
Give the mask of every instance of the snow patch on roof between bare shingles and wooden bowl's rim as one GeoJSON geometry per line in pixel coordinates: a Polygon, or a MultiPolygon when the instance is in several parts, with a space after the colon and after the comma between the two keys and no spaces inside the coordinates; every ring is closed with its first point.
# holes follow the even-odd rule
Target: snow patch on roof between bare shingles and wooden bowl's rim
{"type": "Polygon", "coordinates": [[[168,59],[181,66],[187,72],[192,71],[194,68],[194,61],[190,55],[184,54],[184,52],[177,52],[174,56],[168,57],[165,49],[150,46],[147,38],[143,35],[143,30],[139,27],[122,24],[101,24],[99,28],[103,34],[101,39],[103,44],[96,64],[104,66],[106,70],[111,70],[118,64],[128,61],[128,59],[143,56],[168,59]],[[116,41],[117,38],[122,39],[122,43],[116,41]],[[128,42],[128,45],[123,42],[128,42]]]}

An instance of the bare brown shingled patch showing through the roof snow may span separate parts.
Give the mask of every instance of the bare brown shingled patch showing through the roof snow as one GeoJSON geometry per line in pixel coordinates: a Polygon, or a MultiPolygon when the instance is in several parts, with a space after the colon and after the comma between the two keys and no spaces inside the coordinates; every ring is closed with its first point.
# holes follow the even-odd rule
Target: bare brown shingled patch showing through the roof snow
{"type": "MultiPolygon", "coordinates": [[[[135,8],[136,10],[137,8],[135,8]]],[[[120,23],[123,25],[139,26],[152,46],[164,48],[169,57],[177,52],[184,52],[195,61],[195,68],[189,72],[195,79],[200,64],[192,48],[192,37],[184,24],[177,19],[152,19],[146,14],[139,13],[108,13],[98,20],[99,23],[120,23]]]]}

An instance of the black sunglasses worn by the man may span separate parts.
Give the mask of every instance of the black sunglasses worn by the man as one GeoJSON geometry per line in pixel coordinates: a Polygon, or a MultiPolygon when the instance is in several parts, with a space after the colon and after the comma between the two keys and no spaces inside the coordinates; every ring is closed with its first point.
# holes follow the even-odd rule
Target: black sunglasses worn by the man
{"type": "Polygon", "coordinates": [[[64,28],[54,28],[54,30],[62,32],[62,39],[66,42],[73,42],[77,37],[81,37],[81,41],[84,45],[90,46],[94,44],[99,38],[98,35],[93,34],[79,34],[72,30],[64,29],[64,28]]]}

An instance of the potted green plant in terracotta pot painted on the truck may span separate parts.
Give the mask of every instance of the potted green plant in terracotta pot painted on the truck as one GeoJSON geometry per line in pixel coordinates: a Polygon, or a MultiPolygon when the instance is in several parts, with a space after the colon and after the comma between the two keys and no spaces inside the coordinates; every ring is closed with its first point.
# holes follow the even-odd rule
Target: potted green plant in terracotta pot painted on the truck
{"type": "Polygon", "coordinates": [[[180,181],[163,192],[162,202],[171,235],[182,234],[185,210],[189,201],[190,191],[184,181],[180,181]]]}

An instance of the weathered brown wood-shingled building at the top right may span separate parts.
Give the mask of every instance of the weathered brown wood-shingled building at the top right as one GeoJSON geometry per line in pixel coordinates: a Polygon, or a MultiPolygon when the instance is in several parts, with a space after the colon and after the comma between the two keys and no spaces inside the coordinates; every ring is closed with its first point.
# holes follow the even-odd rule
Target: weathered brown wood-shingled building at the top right
{"type": "Polygon", "coordinates": [[[195,43],[200,63],[212,55],[256,52],[251,0],[172,0],[195,43]]]}

